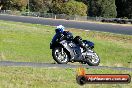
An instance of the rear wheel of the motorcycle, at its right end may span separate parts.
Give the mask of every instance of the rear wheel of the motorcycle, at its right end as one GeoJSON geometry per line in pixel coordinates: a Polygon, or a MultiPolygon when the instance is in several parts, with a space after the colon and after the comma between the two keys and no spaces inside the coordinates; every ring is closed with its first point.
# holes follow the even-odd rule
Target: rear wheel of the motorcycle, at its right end
{"type": "Polygon", "coordinates": [[[100,63],[100,58],[95,52],[91,52],[90,55],[88,56],[88,61],[87,64],[90,66],[98,66],[100,63]]]}

